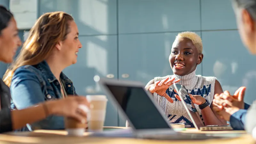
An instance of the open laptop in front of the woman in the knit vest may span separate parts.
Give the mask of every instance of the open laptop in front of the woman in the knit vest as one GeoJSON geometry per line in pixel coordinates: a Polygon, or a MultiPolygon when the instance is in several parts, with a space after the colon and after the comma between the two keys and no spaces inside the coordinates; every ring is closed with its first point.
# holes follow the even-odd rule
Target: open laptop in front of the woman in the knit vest
{"type": "Polygon", "coordinates": [[[178,92],[178,95],[180,96],[180,100],[182,104],[184,105],[186,111],[188,112],[188,115],[194,124],[195,128],[197,130],[201,131],[221,131],[221,130],[233,130],[233,128],[229,125],[204,125],[204,122],[202,121],[198,111],[196,110],[196,107],[191,99],[188,99],[186,96],[188,95],[188,91],[183,85],[180,84],[173,84],[173,87],[178,92]]]}

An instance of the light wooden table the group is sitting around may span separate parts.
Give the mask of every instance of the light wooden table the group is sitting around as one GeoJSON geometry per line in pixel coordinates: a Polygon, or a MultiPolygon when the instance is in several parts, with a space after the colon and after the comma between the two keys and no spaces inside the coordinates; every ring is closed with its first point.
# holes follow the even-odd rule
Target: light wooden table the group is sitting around
{"type": "MultiPolygon", "coordinates": [[[[108,128],[108,127],[106,127],[108,128]]],[[[124,128],[124,127],[111,127],[111,128],[124,128]]],[[[188,133],[232,133],[232,132],[240,132],[244,133],[239,138],[233,139],[215,139],[215,140],[172,140],[172,144],[234,144],[234,143],[245,143],[245,144],[254,144],[255,141],[252,137],[246,134],[244,131],[207,131],[201,132],[197,131],[196,129],[187,129],[186,131],[181,132],[188,132],[188,133]]],[[[88,135],[85,132],[85,135],[88,135]]],[[[18,143],[30,143],[30,144],[39,144],[39,143],[47,143],[47,144],[99,144],[99,143],[112,143],[112,144],[170,144],[170,140],[142,140],[142,139],[131,139],[131,138],[93,138],[93,137],[70,137],[67,136],[66,131],[60,130],[36,130],[34,132],[8,132],[5,134],[0,134],[0,144],[18,144],[18,143]]]]}

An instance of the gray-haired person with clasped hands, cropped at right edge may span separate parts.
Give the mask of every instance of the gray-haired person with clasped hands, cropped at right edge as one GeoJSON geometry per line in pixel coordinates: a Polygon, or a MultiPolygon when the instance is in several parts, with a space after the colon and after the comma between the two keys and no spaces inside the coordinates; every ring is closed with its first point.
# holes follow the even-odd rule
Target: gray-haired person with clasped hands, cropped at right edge
{"type": "MultiPolygon", "coordinates": [[[[256,55],[256,0],[232,0],[236,22],[242,42],[256,55]]],[[[214,95],[213,110],[222,119],[230,121],[236,130],[246,130],[256,134],[256,101],[252,106],[244,103],[245,87],[240,87],[234,95],[228,91],[214,95]]]]}

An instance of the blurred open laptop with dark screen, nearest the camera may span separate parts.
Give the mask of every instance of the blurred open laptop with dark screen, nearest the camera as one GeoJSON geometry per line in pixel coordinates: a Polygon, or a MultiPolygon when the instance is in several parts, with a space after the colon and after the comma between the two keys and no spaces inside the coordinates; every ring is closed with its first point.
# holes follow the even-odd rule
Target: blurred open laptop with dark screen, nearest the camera
{"type": "MultiPolygon", "coordinates": [[[[237,137],[238,134],[216,136],[214,134],[181,133],[172,129],[158,108],[152,94],[140,82],[103,79],[99,81],[108,98],[117,106],[132,127],[132,137],[161,140],[205,140],[237,137]]],[[[223,135],[223,134],[222,134],[223,135]]]]}

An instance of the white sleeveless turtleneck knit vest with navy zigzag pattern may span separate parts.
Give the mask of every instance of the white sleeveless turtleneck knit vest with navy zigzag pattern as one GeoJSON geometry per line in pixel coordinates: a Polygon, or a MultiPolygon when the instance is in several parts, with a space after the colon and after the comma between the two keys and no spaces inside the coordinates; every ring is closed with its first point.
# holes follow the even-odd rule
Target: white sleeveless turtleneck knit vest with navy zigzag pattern
{"type": "MultiPolygon", "coordinates": [[[[201,95],[205,99],[209,100],[210,103],[212,103],[216,77],[196,75],[195,70],[185,76],[171,75],[164,77],[155,77],[155,83],[156,81],[163,80],[167,77],[169,77],[170,79],[173,77],[175,77],[175,79],[181,79],[181,81],[177,84],[185,86],[188,93],[192,95],[201,95]]],[[[170,103],[168,100],[166,100],[162,96],[159,96],[157,93],[154,93],[154,100],[157,102],[159,107],[164,110],[164,113],[168,117],[170,123],[185,122],[185,127],[194,127],[194,124],[188,116],[188,113],[184,108],[182,102],[175,98],[174,94],[177,93],[174,92],[173,85],[171,85],[169,89],[166,90],[166,93],[172,98],[172,100],[174,101],[173,103],[170,103]]],[[[186,98],[190,99],[189,96],[186,96],[186,98]]],[[[199,112],[201,119],[203,120],[202,113],[198,105],[195,104],[195,107],[199,112]]]]}

